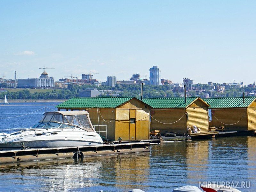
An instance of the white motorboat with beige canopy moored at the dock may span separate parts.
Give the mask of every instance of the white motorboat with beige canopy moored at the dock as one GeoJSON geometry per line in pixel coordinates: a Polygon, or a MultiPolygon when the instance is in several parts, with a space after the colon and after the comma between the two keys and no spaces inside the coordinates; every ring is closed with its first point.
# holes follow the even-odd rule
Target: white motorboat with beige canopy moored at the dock
{"type": "Polygon", "coordinates": [[[87,111],[46,112],[31,128],[2,134],[0,148],[47,148],[100,145],[87,111]]]}

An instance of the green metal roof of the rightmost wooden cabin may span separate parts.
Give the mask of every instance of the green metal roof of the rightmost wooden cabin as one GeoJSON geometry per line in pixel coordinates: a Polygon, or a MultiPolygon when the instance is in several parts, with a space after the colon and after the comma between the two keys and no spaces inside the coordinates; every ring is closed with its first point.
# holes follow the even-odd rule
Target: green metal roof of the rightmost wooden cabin
{"type": "Polygon", "coordinates": [[[256,97],[219,97],[219,98],[205,98],[203,99],[211,107],[209,108],[242,108],[248,107],[256,97]]]}

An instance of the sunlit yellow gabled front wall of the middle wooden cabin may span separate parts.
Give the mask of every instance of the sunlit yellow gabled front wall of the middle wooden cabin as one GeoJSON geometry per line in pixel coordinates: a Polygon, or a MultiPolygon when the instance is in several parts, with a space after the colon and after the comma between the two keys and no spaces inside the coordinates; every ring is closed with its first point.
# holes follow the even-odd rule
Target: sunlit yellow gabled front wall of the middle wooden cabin
{"type": "Polygon", "coordinates": [[[188,112],[188,126],[196,125],[201,129],[201,133],[209,132],[208,106],[203,103],[195,102],[190,105],[188,112]]]}

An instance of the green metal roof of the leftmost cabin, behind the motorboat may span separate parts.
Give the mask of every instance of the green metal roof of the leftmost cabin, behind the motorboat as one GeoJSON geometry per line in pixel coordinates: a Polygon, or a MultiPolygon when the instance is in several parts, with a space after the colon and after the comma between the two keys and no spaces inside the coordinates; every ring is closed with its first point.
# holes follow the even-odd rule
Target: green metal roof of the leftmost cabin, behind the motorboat
{"type": "Polygon", "coordinates": [[[134,97],[79,97],[67,100],[56,108],[115,108],[134,97]]]}

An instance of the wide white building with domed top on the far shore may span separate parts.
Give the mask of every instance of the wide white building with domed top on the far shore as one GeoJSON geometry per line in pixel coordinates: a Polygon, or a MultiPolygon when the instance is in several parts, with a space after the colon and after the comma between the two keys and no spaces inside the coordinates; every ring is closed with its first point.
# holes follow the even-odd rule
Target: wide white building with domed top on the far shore
{"type": "Polygon", "coordinates": [[[54,78],[49,77],[44,70],[40,78],[18,79],[19,88],[54,87],[54,78]]]}

